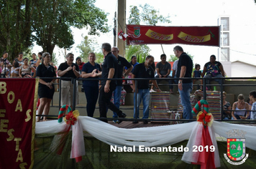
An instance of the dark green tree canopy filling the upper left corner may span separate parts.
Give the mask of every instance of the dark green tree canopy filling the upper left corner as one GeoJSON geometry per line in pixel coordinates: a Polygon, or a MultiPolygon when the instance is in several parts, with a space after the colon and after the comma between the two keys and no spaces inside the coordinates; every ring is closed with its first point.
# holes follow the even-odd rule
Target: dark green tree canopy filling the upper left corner
{"type": "Polygon", "coordinates": [[[32,42],[52,54],[56,45],[74,44],[70,27],[86,27],[88,34],[109,32],[106,16],[96,0],[0,0],[0,52],[12,61],[19,52],[29,53],[32,42]]]}

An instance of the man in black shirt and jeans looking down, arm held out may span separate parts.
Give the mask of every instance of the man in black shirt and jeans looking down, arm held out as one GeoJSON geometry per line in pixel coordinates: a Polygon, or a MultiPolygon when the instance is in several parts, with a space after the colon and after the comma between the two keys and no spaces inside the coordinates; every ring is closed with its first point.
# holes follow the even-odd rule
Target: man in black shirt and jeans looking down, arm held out
{"type": "MultiPolygon", "coordinates": [[[[137,64],[134,67],[132,72],[132,78],[154,78],[154,70],[152,69],[151,65],[154,64],[154,57],[151,55],[147,56],[145,62],[141,64],[137,64]]],[[[152,83],[157,89],[157,92],[161,92],[158,87],[156,80],[152,80],[152,83]]],[[[133,117],[140,118],[140,102],[143,100],[143,117],[142,119],[147,119],[149,116],[149,105],[150,105],[150,85],[149,80],[138,80],[137,81],[137,93],[136,93],[136,86],[135,80],[132,80],[133,84],[133,92],[134,92],[134,115],[133,117]],[[137,97],[137,102],[135,102],[137,97]]],[[[144,124],[147,124],[147,120],[143,121],[144,124]]],[[[134,120],[132,123],[138,123],[137,120],[134,120]]]]}

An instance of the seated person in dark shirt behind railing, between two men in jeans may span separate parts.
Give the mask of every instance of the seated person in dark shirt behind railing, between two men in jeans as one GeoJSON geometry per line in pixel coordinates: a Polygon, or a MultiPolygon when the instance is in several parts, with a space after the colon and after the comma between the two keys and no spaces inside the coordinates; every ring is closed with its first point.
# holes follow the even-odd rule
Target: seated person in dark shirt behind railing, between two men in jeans
{"type": "MultiPolygon", "coordinates": [[[[170,66],[169,62],[166,62],[166,54],[161,54],[160,59],[161,59],[161,62],[158,62],[157,66],[156,66],[157,75],[155,77],[159,78],[159,79],[157,79],[157,83],[159,83],[161,80],[163,80],[161,78],[167,78],[167,77],[170,78],[171,66],[170,66]]],[[[172,81],[172,79],[164,79],[164,80],[167,81],[168,84],[169,84],[170,94],[173,94],[173,85],[172,85],[173,81],[172,81]]],[[[151,87],[151,90],[153,90],[153,87],[154,86],[151,87]]]]}

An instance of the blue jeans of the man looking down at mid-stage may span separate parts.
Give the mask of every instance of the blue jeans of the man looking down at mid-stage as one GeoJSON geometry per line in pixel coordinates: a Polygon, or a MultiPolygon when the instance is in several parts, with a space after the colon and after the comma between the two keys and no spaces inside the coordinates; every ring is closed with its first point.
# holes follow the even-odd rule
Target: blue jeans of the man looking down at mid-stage
{"type": "MultiPolygon", "coordinates": [[[[134,93],[133,97],[133,102],[134,102],[134,115],[133,117],[136,118],[135,110],[136,110],[136,104],[135,104],[135,99],[136,99],[136,93],[134,93]]],[[[138,90],[137,91],[137,118],[140,118],[140,103],[143,100],[143,117],[142,119],[147,119],[150,110],[149,110],[149,105],[150,105],[150,90],[145,89],[145,90],[138,90]]]]}

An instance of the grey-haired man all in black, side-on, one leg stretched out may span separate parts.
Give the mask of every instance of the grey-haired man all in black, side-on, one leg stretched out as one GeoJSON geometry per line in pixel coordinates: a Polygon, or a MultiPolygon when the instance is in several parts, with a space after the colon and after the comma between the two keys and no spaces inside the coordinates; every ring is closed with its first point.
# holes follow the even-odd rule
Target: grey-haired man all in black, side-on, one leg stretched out
{"type": "MultiPolygon", "coordinates": [[[[108,107],[113,112],[116,112],[118,117],[126,117],[119,108],[117,108],[110,100],[112,92],[116,89],[118,63],[116,57],[111,54],[111,45],[109,43],[102,44],[102,53],[105,56],[104,62],[102,63],[101,72],[101,89],[99,94],[99,113],[100,117],[106,117],[106,108],[108,107]]],[[[99,74],[98,74],[99,75],[99,74]]],[[[108,122],[107,120],[102,120],[108,122]]],[[[119,120],[119,123],[122,120],[119,120]]]]}

